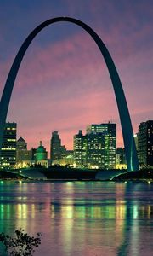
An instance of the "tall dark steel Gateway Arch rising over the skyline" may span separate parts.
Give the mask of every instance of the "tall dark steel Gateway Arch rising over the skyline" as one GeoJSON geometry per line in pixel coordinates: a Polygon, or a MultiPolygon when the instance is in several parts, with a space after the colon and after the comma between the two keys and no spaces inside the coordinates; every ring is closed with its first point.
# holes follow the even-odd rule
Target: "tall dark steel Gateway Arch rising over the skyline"
{"type": "Polygon", "coordinates": [[[122,136],[123,136],[125,154],[126,154],[126,160],[127,160],[127,170],[128,171],[139,170],[137,151],[136,151],[135,142],[133,138],[133,127],[131,124],[131,119],[130,119],[130,115],[127,108],[127,101],[124,95],[124,91],[122,89],[122,83],[116,71],[115,64],[112,61],[112,58],[108,49],[105,47],[105,44],[103,43],[101,38],[99,38],[98,34],[94,32],[94,30],[90,26],[86,25],[81,20],[76,20],[71,17],[56,17],[54,19],[50,19],[42,22],[42,24],[37,26],[29,34],[25,42],[21,45],[20,50],[16,55],[13,65],[8,73],[8,79],[6,81],[6,84],[3,90],[3,95],[0,102],[0,148],[2,147],[2,143],[3,143],[3,129],[4,129],[4,125],[7,118],[10,97],[12,94],[12,90],[14,88],[14,81],[18,73],[18,70],[20,68],[20,63],[26,53],[26,49],[31,44],[31,41],[37,36],[39,32],[42,31],[44,27],[59,21],[67,21],[67,22],[75,23],[78,26],[81,26],[86,32],[88,32],[88,34],[94,39],[95,43],[98,45],[99,50],[105,59],[105,64],[108,67],[108,70],[111,76],[111,82],[116,95],[116,102],[117,102],[120,121],[122,125],[122,136]]]}

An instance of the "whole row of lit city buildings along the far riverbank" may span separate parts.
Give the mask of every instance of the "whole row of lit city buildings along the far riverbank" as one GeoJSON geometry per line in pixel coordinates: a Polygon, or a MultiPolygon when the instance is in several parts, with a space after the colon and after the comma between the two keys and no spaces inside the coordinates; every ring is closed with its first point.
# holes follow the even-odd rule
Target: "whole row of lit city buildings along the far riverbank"
{"type": "MultiPolygon", "coordinates": [[[[153,120],[142,122],[139,132],[134,136],[139,157],[139,168],[148,168],[153,163],[153,120]]],[[[17,138],[17,124],[5,123],[1,168],[25,168],[41,165],[45,167],[59,165],[73,168],[122,169],[127,168],[125,148],[116,145],[116,124],[103,123],[87,126],[86,134],[79,130],[73,136],[73,150],[67,150],[62,144],[58,131],[52,132],[50,156],[42,141],[37,148],[28,148],[26,139],[17,138]]]]}

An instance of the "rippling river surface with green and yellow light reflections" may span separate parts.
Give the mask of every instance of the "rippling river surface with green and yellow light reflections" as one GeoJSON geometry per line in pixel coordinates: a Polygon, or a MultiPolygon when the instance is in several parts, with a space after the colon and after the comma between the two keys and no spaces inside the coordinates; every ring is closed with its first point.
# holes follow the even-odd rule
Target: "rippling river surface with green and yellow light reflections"
{"type": "Polygon", "coordinates": [[[35,255],[151,255],[153,183],[3,182],[0,231],[42,232],[35,255]]]}

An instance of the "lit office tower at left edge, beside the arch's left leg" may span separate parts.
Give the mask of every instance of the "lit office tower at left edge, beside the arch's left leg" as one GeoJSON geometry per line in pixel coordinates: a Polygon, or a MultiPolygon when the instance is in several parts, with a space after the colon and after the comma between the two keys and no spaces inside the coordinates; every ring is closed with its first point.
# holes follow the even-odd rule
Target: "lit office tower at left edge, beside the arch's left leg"
{"type": "Polygon", "coordinates": [[[0,153],[2,167],[12,167],[16,163],[16,123],[6,123],[3,131],[3,145],[0,153]]]}

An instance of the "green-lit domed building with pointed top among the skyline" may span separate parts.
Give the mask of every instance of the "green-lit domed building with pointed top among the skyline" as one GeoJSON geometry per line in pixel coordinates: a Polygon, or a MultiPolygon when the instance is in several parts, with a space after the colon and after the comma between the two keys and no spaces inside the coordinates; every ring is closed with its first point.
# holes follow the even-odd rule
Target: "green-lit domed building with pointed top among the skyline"
{"type": "Polygon", "coordinates": [[[40,141],[40,145],[36,150],[36,161],[37,165],[48,167],[48,152],[42,146],[42,141],[40,141]]]}

